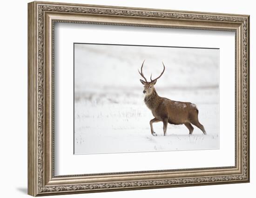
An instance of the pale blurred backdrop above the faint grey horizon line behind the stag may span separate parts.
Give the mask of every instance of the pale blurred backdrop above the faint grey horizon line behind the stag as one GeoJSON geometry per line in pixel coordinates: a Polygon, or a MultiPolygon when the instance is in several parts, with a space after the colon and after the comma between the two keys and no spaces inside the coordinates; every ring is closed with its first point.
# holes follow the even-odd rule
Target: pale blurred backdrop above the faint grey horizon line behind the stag
{"type": "Polygon", "coordinates": [[[218,87],[219,50],[123,45],[74,45],[76,91],[115,87],[140,88],[138,69],[143,60],[147,79],[165,72],[161,88],[218,87]]]}

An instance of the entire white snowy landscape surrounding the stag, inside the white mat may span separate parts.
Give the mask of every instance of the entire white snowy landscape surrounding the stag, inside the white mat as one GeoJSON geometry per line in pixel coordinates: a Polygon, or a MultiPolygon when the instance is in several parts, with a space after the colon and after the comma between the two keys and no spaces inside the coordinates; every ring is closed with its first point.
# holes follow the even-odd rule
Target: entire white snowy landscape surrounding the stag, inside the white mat
{"type": "Polygon", "coordinates": [[[219,148],[219,52],[216,49],[75,44],[74,153],[126,153],[219,148]],[[159,96],[192,102],[207,135],[194,126],[154,123],[137,69],[157,81],[159,96]]]}

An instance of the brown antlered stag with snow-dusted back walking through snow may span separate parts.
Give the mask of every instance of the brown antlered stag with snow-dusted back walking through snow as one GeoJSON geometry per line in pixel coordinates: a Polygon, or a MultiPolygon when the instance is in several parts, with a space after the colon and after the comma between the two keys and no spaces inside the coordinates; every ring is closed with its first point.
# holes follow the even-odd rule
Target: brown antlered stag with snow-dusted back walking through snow
{"type": "Polygon", "coordinates": [[[184,124],[189,129],[189,134],[193,133],[193,125],[200,128],[203,134],[206,134],[204,127],[198,121],[198,109],[195,104],[191,102],[180,102],[180,101],[173,101],[168,98],[160,97],[156,93],[154,85],[156,80],[160,78],[165,70],[165,66],[163,64],[163,71],[159,77],[152,80],[152,74],[150,76],[150,82],[144,77],[142,72],[142,67],[145,60],[141,65],[141,72],[139,71],[141,77],[144,78],[145,81],[140,80],[141,83],[144,85],[143,93],[145,94],[144,102],[147,105],[148,109],[152,111],[153,116],[155,117],[150,121],[150,129],[151,134],[156,136],[157,134],[153,130],[153,123],[154,122],[163,122],[163,134],[166,134],[166,129],[168,123],[170,124],[184,124]]]}

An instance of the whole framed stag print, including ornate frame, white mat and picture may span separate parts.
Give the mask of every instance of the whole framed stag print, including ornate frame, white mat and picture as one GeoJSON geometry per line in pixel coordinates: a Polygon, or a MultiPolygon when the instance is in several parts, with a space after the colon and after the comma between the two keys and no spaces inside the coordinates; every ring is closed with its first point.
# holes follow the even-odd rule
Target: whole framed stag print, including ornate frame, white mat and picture
{"type": "Polygon", "coordinates": [[[249,16],[28,4],[28,194],[249,182],[249,16]]]}

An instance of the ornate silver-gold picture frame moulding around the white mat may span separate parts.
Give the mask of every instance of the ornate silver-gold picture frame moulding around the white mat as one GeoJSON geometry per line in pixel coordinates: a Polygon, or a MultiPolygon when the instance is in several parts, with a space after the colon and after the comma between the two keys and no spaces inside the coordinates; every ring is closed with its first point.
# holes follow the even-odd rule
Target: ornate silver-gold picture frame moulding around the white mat
{"type": "Polygon", "coordinates": [[[37,1],[28,4],[29,195],[243,182],[249,182],[249,15],[37,1]],[[235,166],[55,176],[55,22],[235,32],[235,166]]]}

